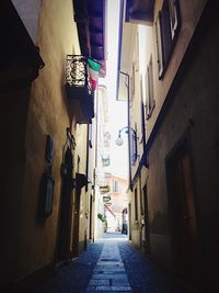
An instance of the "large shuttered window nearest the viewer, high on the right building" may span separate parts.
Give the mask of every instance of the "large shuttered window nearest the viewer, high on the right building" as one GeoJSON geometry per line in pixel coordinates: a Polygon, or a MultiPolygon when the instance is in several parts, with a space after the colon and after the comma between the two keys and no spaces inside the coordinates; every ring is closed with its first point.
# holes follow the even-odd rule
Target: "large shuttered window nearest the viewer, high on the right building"
{"type": "Polygon", "coordinates": [[[162,78],[180,30],[177,0],[164,0],[155,23],[159,77],[162,78]]]}

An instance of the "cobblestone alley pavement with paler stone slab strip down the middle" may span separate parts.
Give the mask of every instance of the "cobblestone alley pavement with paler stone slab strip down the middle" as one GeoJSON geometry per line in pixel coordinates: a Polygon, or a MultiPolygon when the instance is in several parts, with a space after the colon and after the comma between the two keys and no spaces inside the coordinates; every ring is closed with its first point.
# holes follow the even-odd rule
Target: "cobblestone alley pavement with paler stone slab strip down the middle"
{"type": "Polygon", "coordinates": [[[105,234],[37,293],[187,293],[120,234],[105,234]]]}

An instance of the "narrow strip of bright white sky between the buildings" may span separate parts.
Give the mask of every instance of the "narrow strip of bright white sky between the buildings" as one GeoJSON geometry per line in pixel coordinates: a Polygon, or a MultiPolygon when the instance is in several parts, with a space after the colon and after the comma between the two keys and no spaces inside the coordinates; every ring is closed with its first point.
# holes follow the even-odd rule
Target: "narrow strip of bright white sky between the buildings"
{"type": "Polygon", "coordinates": [[[104,83],[107,87],[108,117],[107,129],[111,133],[111,172],[113,174],[127,177],[128,174],[128,149],[127,134],[123,132],[124,145],[117,146],[115,139],[118,136],[118,129],[127,126],[127,103],[116,101],[117,82],[117,55],[118,55],[118,0],[107,1],[107,60],[106,78],[104,83]]]}

